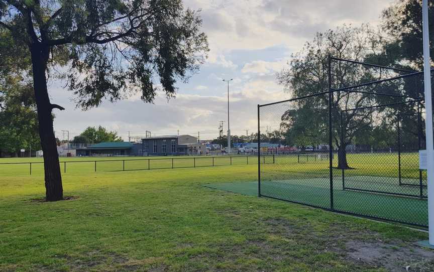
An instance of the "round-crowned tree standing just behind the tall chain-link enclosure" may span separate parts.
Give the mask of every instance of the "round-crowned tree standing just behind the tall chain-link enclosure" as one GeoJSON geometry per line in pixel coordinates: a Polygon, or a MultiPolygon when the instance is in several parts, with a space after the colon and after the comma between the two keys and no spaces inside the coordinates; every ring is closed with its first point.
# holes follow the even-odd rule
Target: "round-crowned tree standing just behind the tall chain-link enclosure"
{"type": "MultiPolygon", "coordinates": [[[[302,51],[292,55],[289,68],[282,70],[278,80],[293,97],[328,92],[328,58],[335,56],[341,59],[364,61],[367,56],[374,56],[382,48],[382,40],[373,35],[369,26],[359,28],[343,26],[325,33],[317,33],[312,42],[307,42],[302,51]]],[[[343,62],[332,66],[332,88],[356,85],[390,76],[387,71],[376,73],[361,67],[343,62]]],[[[371,93],[384,86],[376,86],[371,93]]],[[[390,86],[389,86],[390,87],[390,86]]],[[[393,88],[386,88],[389,89],[393,88]]],[[[369,127],[373,111],[384,109],[345,110],[370,106],[379,98],[369,93],[348,93],[335,91],[332,100],[332,133],[333,145],[338,148],[338,168],[349,168],[346,147],[353,139],[369,127]],[[343,118],[343,124],[340,119],[343,118]],[[343,125],[343,127],[341,127],[343,125]],[[344,133],[341,134],[341,128],[344,133]]],[[[384,101],[383,101],[384,102],[384,101]]],[[[292,102],[291,109],[282,116],[281,128],[286,130],[287,141],[298,146],[313,144],[329,144],[324,139],[324,131],[328,131],[327,116],[328,95],[314,96],[292,102]],[[292,139],[288,139],[291,137],[292,139]]],[[[328,139],[328,135],[327,135],[328,139]]],[[[333,148],[329,147],[329,148],[333,148]]]]}

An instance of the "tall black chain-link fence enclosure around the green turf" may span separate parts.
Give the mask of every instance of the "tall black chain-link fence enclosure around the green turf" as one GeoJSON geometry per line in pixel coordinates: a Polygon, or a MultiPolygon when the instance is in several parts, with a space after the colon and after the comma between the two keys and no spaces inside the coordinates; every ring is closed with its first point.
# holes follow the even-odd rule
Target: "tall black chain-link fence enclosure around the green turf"
{"type": "Polygon", "coordinates": [[[426,227],[422,73],[328,66],[327,91],[258,105],[258,133],[298,153],[258,164],[259,196],[426,227]]]}

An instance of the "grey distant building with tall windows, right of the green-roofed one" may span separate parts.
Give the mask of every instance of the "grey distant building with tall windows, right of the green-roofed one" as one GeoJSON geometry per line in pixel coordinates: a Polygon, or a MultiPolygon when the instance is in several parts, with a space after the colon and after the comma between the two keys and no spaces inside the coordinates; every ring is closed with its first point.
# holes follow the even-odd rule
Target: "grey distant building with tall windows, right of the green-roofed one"
{"type": "Polygon", "coordinates": [[[157,155],[196,155],[205,154],[204,145],[198,144],[191,135],[163,135],[142,139],[143,153],[157,155]]]}

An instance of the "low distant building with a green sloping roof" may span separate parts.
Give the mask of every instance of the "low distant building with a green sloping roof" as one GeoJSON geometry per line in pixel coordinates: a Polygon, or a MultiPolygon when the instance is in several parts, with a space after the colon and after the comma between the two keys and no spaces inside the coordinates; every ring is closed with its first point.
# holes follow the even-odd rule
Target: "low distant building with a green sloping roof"
{"type": "MultiPolygon", "coordinates": [[[[140,144],[139,144],[140,145],[140,144]]],[[[129,142],[104,142],[85,148],[76,149],[77,156],[131,156],[134,153],[134,144],[129,142]]],[[[137,148],[136,148],[137,149],[137,148]]]]}

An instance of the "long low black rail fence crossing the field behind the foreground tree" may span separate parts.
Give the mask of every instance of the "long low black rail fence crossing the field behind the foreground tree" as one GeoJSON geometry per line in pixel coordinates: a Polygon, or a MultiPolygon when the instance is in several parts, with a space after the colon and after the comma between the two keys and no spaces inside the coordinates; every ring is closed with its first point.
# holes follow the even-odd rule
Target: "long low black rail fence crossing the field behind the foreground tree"
{"type": "MultiPolygon", "coordinates": [[[[262,155],[262,164],[272,164],[274,155],[262,155]]],[[[154,169],[196,168],[231,165],[256,165],[257,156],[184,157],[129,160],[94,160],[60,162],[63,173],[137,171],[154,169]]],[[[35,175],[44,173],[43,162],[0,163],[0,175],[35,175]]]]}

